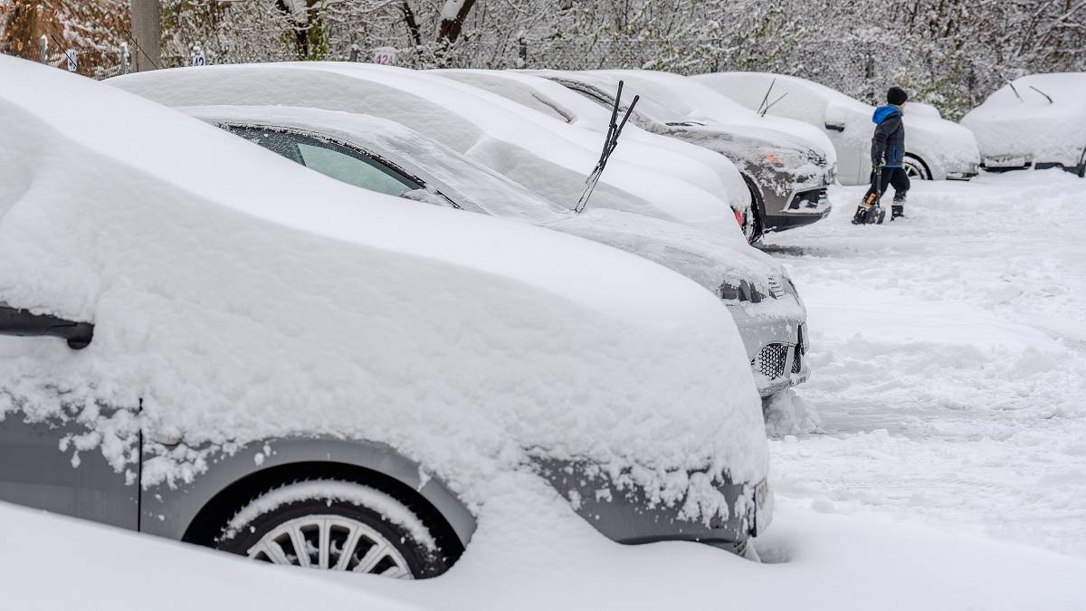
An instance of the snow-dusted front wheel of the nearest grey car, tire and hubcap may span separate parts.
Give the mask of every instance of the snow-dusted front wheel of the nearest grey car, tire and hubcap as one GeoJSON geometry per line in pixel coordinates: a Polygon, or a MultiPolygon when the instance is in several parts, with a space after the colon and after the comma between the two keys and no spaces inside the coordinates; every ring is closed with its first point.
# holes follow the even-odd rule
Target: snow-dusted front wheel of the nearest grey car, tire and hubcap
{"type": "Polygon", "coordinates": [[[273,564],[402,579],[433,577],[452,564],[437,535],[406,504],[338,479],[264,491],[223,525],[214,547],[273,564]]]}

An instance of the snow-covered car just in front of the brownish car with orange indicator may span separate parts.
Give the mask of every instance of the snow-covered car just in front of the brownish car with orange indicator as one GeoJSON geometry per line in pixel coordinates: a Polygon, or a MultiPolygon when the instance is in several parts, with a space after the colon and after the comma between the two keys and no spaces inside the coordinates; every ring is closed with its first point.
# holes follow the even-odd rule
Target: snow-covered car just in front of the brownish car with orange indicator
{"type": "MultiPolygon", "coordinates": [[[[590,142],[598,142],[610,126],[611,113],[608,110],[546,78],[509,70],[446,68],[432,72],[586,129],[595,134],[590,137],[590,142]]],[[[727,157],[677,138],[646,132],[630,123],[624,126],[620,141],[615,159],[649,159],[655,166],[666,170],[668,174],[694,183],[710,192],[722,189],[747,241],[755,241],[760,237],[752,212],[750,190],[738,169],[727,157]],[[670,154],[672,151],[680,157],[670,154]],[[692,162],[691,158],[700,163],[692,162]],[[715,175],[706,176],[705,167],[714,170],[715,175]]]]}

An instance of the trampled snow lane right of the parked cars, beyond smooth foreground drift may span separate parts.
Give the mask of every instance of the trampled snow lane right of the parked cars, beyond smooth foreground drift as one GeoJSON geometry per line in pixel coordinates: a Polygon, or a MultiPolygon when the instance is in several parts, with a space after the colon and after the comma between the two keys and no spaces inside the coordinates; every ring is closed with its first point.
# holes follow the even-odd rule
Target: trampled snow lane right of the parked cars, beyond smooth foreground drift
{"type": "Polygon", "coordinates": [[[1086,557],[1086,180],[913,182],[908,219],[854,226],[862,191],[766,240],[812,342],[768,426],[779,507],[1086,557]]]}

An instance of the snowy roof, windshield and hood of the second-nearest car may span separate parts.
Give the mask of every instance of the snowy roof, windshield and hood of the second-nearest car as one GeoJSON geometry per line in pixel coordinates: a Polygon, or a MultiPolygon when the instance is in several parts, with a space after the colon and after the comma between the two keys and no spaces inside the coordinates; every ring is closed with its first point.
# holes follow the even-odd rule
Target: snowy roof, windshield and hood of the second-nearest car
{"type": "MultiPolygon", "coordinates": [[[[419,177],[466,210],[536,223],[655,261],[719,295],[746,280],[763,295],[784,270],[749,247],[738,232],[699,227],[591,205],[577,214],[535,196],[490,169],[397,123],[355,113],[287,107],[199,107],[179,110],[229,125],[311,132],[363,148],[419,177]]],[[[441,202],[442,200],[435,200],[441,202]]]]}

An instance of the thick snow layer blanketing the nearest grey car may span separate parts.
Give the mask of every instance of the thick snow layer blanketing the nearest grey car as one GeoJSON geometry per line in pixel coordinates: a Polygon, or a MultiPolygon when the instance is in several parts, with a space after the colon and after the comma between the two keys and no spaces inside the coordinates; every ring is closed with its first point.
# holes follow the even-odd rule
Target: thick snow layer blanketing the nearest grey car
{"type": "Polygon", "coordinates": [[[480,513],[532,451],[703,519],[729,508],[689,470],[766,476],[740,336],[695,283],[338,183],[63,71],[0,74],[0,302],[96,323],[81,351],[0,337],[0,414],[94,427],[68,451],[123,470],[139,426],[153,485],[238,444],[367,439],[480,513]]]}

